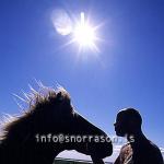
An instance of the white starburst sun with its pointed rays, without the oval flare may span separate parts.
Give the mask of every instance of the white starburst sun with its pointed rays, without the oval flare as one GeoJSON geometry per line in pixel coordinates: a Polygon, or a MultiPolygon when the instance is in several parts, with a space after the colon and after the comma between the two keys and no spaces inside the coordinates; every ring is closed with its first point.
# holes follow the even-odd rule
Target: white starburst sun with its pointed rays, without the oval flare
{"type": "Polygon", "coordinates": [[[74,22],[72,22],[72,31],[69,34],[70,39],[61,45],[58,49],[62,49],[72,44],[77,44],[79,46],[78,56],[81,56],[81,54],[84,54],[84,51],[87,49],[99,54],[101,50],[97,46],[97,43],[102,42],[102,39],[97,36],[97,31],[104,23],[97,25],[94,25],[92,23],[93,21],[91,21],[91,17],[86,17],[85,13],[81,12],[80,17],[74,17],[74,22]]]}

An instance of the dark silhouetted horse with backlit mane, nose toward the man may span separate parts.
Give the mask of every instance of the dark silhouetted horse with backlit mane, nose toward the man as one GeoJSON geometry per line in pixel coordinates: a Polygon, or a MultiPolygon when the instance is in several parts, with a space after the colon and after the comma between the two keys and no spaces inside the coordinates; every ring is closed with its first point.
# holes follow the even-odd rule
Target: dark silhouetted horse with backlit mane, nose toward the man
{"type": "Polygon", "coordinates": [[[3,126],[0,138],[0,164],[52,164],[63,150],[77,150],[91,155],[94,163],[113,153],[110,142],[37,142],[36,134],[107,134],[79,115],[63,89],[46,89],[42,94],[33,90],[27,96],[30,107],[22,116],[3,126]]]}

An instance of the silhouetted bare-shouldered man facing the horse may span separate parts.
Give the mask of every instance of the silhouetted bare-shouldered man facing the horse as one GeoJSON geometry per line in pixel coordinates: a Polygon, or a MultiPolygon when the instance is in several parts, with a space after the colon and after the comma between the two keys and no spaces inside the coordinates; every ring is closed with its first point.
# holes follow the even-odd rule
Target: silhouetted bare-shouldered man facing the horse
{"type": "Polygon", "coordinates": [[[117,114],[116,134],[127,137],[115,164],[164,164],[160,149],[145,138],[141,130],[142,118],[138,110],[126,108],[117,114]]]}

